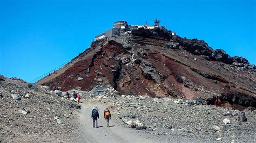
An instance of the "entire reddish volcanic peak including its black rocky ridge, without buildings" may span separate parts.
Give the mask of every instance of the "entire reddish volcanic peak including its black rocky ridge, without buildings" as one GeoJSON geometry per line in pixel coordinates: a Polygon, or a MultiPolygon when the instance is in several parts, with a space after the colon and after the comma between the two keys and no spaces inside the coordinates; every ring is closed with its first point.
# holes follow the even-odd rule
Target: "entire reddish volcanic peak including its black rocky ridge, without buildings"
{"type": "Polygon", "coordinates": [[[41,84],[65,91],[110,85],[120,94],[201,98],[207,104],[252,109],[255,71],[245,58],[214,50],[203,40],[139,28],[93,41],[62,74],[45,77],[50,80],[41,84]]]}

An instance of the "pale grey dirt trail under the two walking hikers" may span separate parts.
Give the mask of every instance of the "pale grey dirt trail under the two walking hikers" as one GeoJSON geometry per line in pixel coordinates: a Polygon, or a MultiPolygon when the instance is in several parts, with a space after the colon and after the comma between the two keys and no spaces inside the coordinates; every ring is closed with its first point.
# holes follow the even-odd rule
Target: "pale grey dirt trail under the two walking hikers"
{"type": "MultiPolygon", "coordinates": [[[[106,127],[104,109],[102,103],[82,103],[79,112],[79,138],[78,142],[168,142],[150,134],[138,132],[132,128],[126,128],[110,120],[110,127],[106,127]],[[98,128],[92,127],[91,110],[95,106],[99,111],[98,128]]],[[[112,118],[116,118],[112,115],[112,118]]]]}

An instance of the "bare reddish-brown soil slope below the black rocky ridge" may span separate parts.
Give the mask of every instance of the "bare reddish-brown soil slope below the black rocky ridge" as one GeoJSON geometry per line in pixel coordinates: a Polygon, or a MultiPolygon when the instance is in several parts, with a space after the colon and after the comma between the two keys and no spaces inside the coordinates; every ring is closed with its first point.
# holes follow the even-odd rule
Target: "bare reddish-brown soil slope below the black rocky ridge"
{"type": "MultiPolygon", "coordinates": [[[[134,36],[129,39],[129,44],[132,46],[129,50],[116,41],[105,42],[79,55],[77,57],[79,60],[70,68],[43,85],[50,87],[60,85],[63,90],[76,87],[91,90],[96,85],[111,85],[121,94],[213,99],[214,104],[220,105],[225,104],[224,97],[214,99],[215,94],[225,97],[231,94],[238,96],[243,94],[245,96],[242,98],[252,103],[247,105],[243,102],[241,105],[255,107],[256,74],[254,71],[242,70],[218,61],[207,61],[200,55],[193,55],[180,49],[167,49],[164,47],[167,42],[169,41],[164,39],[134,36]],[[148,80],[141,69],[143,63],[132,62],[133,54],[137,59],[151,63],[157,72],[155,74],[159,74],[161,79],[159,81],[148,80]],[[129,62],[124,62],[125,59],[129,62]],[[191,67],[219,77],[220,80],[214,81],[201,76],[191,70],[191,67]],[[90,73],[87,73],[87,68],[90,68],[90,73]],[[95,70],[105,76],[97,76],[95,70]],[[187,86],[184,81],[179,82],[178,76],[190,80],[193,86],[203,87],[207,91],[198,90],[192,85],[187,86]],[[78,81],[78,77],[82,77],[83,80],[78,81]],[[97,78],[102,78],[103,83],[97,82],[97,78]],[[167,92],[168,89],[172,90],[171,94],[167,92]]],[[[226,102],[229,101],[226,100],[226,102]]]]}

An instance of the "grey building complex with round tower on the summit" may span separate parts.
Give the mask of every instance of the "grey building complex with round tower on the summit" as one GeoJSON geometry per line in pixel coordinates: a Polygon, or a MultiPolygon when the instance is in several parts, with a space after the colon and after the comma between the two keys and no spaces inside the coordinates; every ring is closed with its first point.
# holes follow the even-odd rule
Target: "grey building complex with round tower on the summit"
{"type": "MultiPolygon", "coordinates": [[[[147,22],[145,23],[145,25],[129,25],[126,21],[114,22],[113,28],[111,28],[110,30],[107,30],[105,33],[96,35],[95,41],[106,38],[106,37],[111,37],[113,35],[120,35],[121,31],[130,31],[136,28],[146,28],[146,29],[159,28],[159,23],[160,23],[160,20],[158,20],[157,18],[154,19],[154,26],[147,25],[147,22]]],[[[165,26],[160,26],[160,28],[165,28],[165,26]]]]}

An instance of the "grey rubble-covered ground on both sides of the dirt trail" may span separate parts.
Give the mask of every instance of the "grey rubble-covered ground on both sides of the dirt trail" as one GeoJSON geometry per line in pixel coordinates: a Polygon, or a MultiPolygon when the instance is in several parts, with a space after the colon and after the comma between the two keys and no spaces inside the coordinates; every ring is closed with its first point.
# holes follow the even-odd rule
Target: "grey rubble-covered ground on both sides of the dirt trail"
{"type": "MultiPolygon", "coordinates": [[[[74,141],[77,137],[77,103],[19,78],[4,78],[0,92],[0,141],[74,141]]],[[[109,106],[116,126],[159,139],[256,141],[255,110],[225,109],[200,99],[120,95],[112,87],[84,93],[85,105],[109,106]]]]}

